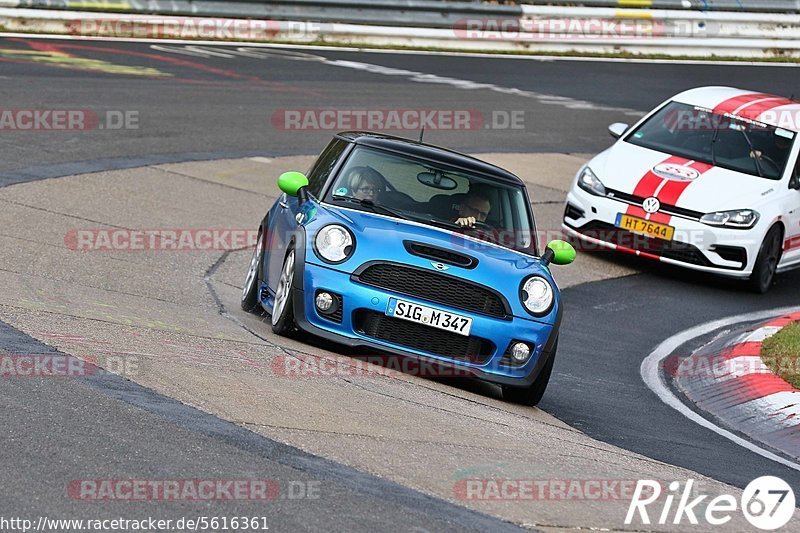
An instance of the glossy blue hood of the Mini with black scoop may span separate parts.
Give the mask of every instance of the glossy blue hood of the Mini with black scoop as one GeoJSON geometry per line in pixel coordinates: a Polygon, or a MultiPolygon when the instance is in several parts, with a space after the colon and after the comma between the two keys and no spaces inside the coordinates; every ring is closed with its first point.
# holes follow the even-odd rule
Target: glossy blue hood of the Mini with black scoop
{"type": "MultiPolygon", "coordinates": [[[[538,274],[558,290],[548,267],[538,257],[446,229],[324,204],[320,205],[314,219],[306,225],[307,239],[310,241],[306,261],[324,265],[318,257],[310,255],[315,253],[311,242],[317,231],[332,223],[349,228],[356,240],[352,257],[332,266],[337,270],[354,272],[365,263],[385,261],[456,276],[499,291],[508,300],[513,315],[530,319],[534,318],[524,310],[519,299],[522,281],[538,274]],[[426,247],[433,247],[443,252],[444,256],[431,256],[426,253],[430,252],[426,247]],[[456,261],[448,261],[448,252],[471,258],[474,265],[460,266],[455,264],[456,261]]],[[[553,316],[535,320],[552,322],[556,310],[554,308],[553,316]]]]}

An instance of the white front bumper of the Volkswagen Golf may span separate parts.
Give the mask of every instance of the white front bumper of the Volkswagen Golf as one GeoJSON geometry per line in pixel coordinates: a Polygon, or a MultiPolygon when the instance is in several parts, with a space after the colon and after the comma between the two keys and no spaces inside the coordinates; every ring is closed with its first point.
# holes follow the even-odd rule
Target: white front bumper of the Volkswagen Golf
{"type": "Polygon", "coordinates": [[[613,249],[720,276],[748,278],[762,241],[762,228],[717,228],[698,220],[673,216],[672,241],[625,235],[616,227],[617,216],[630,204],[595,196],[573,187],[567,195],[562,228],[584,243],[584,250],[613,249]],[[613,238],[609,237],[613,235],[613,238]]]}

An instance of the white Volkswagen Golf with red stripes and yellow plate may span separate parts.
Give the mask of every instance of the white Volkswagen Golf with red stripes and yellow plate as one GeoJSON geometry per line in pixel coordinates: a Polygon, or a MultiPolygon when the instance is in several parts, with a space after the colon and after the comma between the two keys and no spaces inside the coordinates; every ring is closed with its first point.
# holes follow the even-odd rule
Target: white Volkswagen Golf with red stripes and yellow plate
{"type": "Polygon", "coordinates": [[[575,177],[563,228],[604,247],[748,280],[800,267],[800,103],[729,87],[664,102],[575,177]]]}

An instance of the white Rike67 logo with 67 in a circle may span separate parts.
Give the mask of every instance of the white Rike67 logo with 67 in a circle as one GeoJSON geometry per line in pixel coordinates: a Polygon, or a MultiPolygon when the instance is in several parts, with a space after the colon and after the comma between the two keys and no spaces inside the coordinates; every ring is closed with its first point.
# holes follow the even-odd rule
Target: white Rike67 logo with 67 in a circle
{"type": "Polygon", "coordinates": [[[788,483],[777,477],[763,476],[751,481],[744,489],[740,501],[729,494],[717,496],[710,501],[706,501],[709,498],[707,494],[693,498],[696,494],[693,494],[693,487],[694,482],[691,479],[683,487],[680,482],[673,481],[666,494],[662,494],[659,482],[638,481],[625,516],[625,525],[631,525],[638,514],[638,519],[644,525],[652,522],[662,526],[686,522],[697,525],[698,518],[701,518],[712,526],[722,526],[731,521],[734,513],[741,510],[753,527],[774,531],[788,524],[794,515],[794,491],[788,483]],[[655,513],[652,522],[649,512],[655,513]]]}

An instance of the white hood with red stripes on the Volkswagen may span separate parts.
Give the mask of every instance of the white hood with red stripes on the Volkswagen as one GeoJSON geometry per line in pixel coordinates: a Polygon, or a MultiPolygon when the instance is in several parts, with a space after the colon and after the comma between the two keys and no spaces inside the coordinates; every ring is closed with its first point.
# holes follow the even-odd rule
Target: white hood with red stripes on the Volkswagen
{"type": "Polygon", "coordinates": [[[647,191],[639,196],[656,196],[663,204],[702,213],[752,208],[777,183],[626,142],[600,154],[590,167],[607,188],[627,194],[647,191]],[[656,186],[666,180],[669,186],[637,191],[647,180],[656,186]]]}

